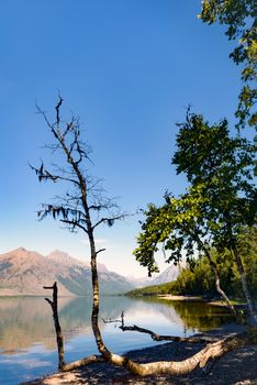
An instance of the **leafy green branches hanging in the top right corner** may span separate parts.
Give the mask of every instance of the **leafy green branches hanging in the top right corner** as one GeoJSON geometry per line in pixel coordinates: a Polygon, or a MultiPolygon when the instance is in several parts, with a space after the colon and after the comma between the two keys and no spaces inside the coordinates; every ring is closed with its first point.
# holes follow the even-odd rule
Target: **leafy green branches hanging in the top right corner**
{"type": "Polygon", "coordinates": [[[243,88],[236,117],[239,125],[246,121],[257,124],[257,113],[253,112],[257,90],[257,6],[255,0],[203,0],[199,18],[205,23],[219,22],[227,26],[225,34],[230,40],[238,38],[238,45],[231,53],[231,58],[242,65],[243,88]]]}

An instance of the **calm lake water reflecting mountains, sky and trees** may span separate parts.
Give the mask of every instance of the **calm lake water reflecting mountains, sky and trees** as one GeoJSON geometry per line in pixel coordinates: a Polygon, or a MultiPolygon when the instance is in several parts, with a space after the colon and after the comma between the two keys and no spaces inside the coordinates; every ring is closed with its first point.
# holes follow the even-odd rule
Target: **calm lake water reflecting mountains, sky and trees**
{"type": "MultiPolygon", "coordinates": [[[[201,302],[103,297],[100,316],[137,324],[158,333],[191,336],[230,322],[223,309],[201,302]]],[[[88,298],[60,298],[59,318],[65,336],[66,361],[97,353],[90,329],[88,298]]],[[[122,332],[114,323],[101,322],[107,345],[116,353],[154,342],[149,336],[122,332]]],[[[14,385],[54,373],[57,367],[55,333],[49,305],[43,298],[0,298],[0,384],[14,385]]]]}

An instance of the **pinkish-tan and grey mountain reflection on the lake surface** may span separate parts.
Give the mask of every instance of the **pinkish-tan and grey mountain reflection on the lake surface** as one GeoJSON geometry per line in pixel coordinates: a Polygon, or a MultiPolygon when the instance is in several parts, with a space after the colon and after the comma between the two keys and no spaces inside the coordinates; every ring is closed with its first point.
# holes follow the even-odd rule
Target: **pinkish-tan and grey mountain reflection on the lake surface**
{"type": "MultiPolygon", "coordinates": [[[[101,315],[116,318],[131,306],[130,298],[104,297],[101,315]],[[115,306],[113,306],[115,301],[115,306]]],[[[59,320],[67,339],[77,333],[91,332],[91,300],[88,297],[59,298],[59,320]]],[[[0,299],[0,349],[3,353],[15,353],[34,343],[43,343],[46,349],[55,349],[55,331],[48,305],[43,298],[0,299]]]]}

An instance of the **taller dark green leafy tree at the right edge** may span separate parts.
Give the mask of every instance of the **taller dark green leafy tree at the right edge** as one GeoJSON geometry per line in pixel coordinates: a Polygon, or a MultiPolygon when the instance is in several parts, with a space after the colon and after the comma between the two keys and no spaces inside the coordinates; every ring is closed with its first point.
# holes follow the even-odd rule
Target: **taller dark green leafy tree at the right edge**
{"type": "Polygon", "coordinates": [[[250,315],[257,315],[238,249],[242,227],[256,223],[257,190],[253,183],[255,147],[246,139],[232,139],[227,121],[209,125],[188,112],[180,124],[172,163],[186,173],[193,188],[201,187],[201,212],[219,252],[228,249],[236,261],[250,315]]]}

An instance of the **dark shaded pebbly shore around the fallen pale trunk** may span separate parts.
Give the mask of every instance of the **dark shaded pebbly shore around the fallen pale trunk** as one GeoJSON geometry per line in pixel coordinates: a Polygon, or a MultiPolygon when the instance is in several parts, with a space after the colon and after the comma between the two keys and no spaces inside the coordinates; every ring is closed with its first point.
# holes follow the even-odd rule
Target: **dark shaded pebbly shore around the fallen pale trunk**
{"type": "MultiPolygon", "coordinates": [[[[195,336],[209,337],[213,342],[220,338],[227,337],[234,332],[246,330],[244,326],[236,323],[210,330],[195,336]]],[[[131,351],[126,355],[136,362],[150,361],[181,361],[201,350],[203,342],[166,342],[156,346],[143,348],[131,351]]],[[[252,344],[231,351],[217,360],[211,367],[209,374],[203,370],[195,371],[181,376],[155,375],[138,377],[131,375],[123,367],[115,367],[109,363],[96,363],[66,373],[56,373],[49,376],[36,378],[21,385],[108,385],[108,384],[135,384],[135,385],[257,385],[257,345],[252,344]]]]}

